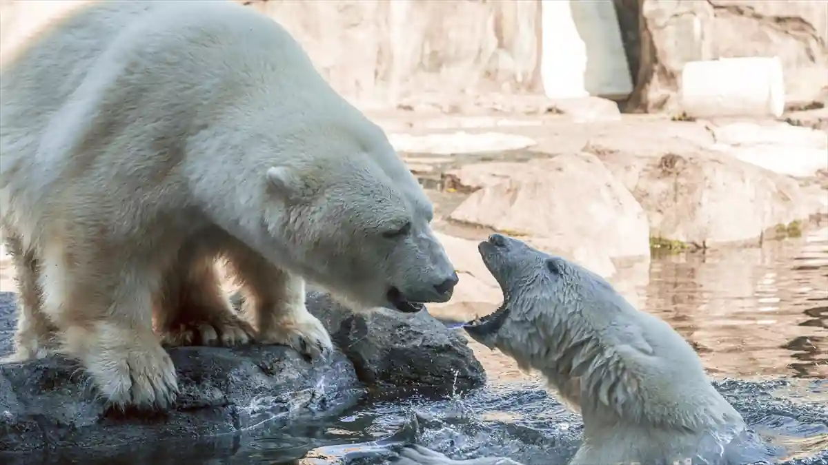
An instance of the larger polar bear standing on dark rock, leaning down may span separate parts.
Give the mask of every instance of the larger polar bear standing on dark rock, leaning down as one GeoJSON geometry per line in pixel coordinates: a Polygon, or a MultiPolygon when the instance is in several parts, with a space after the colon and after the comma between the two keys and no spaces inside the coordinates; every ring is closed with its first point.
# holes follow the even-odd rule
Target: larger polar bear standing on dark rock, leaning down
{"type": "Polygon", "coordinates": [[[234,2],[98,2],[2,70],[0,211],[21,280],[17,360],[58,348],[121,407],[166,407],[166,340],[331,347],[305,281],[416,311],[457,282],[383,131],[277,23],[234,2]],[[151,311],[152,310],[152,311],[151,311]],[[52,346],[57,339],[59,344],[52,346]]]}

